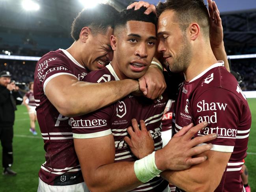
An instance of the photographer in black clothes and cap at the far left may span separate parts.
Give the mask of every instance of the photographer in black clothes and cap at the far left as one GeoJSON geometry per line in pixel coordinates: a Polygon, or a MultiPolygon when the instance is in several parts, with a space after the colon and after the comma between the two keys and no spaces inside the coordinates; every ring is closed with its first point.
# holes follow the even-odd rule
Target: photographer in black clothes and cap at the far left
{"type": "Polygon", "coordinates": [[[13,164],[13,123],[15,119],[16,104],[22,103],[22,96],[18,92],[19,87],[11,82],[9,71],[0,72],[0,140],[3,148],[2,164],[3,175],[16,175],[11,170],[13,164]]]}

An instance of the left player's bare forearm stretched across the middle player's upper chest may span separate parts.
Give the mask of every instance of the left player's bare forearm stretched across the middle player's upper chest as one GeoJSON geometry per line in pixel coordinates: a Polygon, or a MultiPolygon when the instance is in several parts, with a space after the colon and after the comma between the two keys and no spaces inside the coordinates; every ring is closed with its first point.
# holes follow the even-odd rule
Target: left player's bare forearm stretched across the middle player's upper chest
{"type": "Polygon", "coordinates": [[[73,94],[67,95],[67,117],[80,116],[103,108],[138,89],[136,80],[126,79],[106,83],[76,82],[71,86],[73,94]]]}

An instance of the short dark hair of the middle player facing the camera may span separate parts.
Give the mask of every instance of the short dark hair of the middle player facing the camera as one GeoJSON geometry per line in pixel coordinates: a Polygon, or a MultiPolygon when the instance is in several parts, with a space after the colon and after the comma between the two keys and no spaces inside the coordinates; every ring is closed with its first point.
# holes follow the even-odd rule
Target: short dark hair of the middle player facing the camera
{"type": "Polygon", "coordinates": [[[151,22],[155,26],[157,24],[157,16],[154,13],[150,13],[146,15],[144,12],[146,11],[145,7],[141,7],[140,9],[124,9],[119,13],[118,19],[114,22],[114,29],[116,27],[125,26],[128,21],[144,21],[151,22]]]}

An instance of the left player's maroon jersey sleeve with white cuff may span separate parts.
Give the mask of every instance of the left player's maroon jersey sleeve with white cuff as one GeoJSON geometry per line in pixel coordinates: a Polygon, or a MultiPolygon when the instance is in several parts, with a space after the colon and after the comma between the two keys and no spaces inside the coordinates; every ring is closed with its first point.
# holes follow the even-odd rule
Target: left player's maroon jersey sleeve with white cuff
{"type": "Polygon", "coordinates": [[[39,65],[36,70],[43,91],[45,91],[47,83],[56,76],[71,75],[76,77],[72,73],[69,62],[61,54],[46,54],[39,60],[39,65]]]}

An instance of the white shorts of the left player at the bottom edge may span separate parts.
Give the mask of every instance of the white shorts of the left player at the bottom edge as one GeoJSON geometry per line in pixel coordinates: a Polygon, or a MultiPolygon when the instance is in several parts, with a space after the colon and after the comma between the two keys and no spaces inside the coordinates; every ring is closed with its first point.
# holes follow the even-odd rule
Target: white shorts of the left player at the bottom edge
{"type": "Polygon", "coordinates": [[[37,192],[90,192],[84,182],[75,185],[48,185],[39,178],[37,192]]]}

